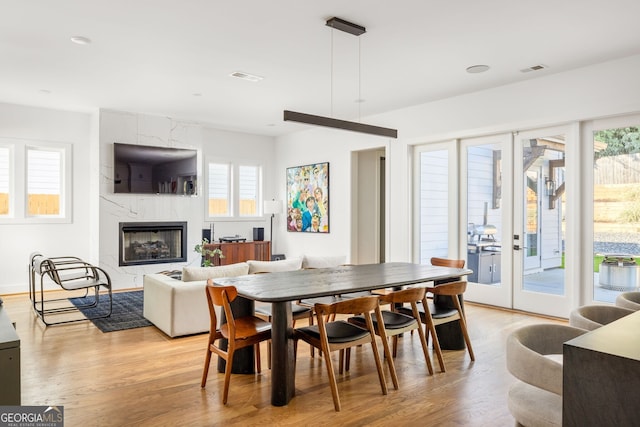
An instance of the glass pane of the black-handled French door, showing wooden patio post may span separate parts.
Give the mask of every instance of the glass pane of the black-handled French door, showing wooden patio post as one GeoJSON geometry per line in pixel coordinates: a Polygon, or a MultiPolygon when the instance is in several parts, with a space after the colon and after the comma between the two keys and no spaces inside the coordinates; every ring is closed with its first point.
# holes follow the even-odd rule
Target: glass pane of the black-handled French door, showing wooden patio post
{"type": "Polygon", "coordinates": [[[565,136],[523,143],[523,288],[564,295],[565,136]]]}

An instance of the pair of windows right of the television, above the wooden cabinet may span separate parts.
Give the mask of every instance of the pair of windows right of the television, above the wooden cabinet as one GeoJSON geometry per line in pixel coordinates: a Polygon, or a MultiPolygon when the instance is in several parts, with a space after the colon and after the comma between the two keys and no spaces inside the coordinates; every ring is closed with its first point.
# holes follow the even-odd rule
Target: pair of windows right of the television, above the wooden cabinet
{"type": "Polygon", "coordinates": [[[260,166],[210,162],[207,171],[208,217],[255,218],[261,215],[260,166]]]}

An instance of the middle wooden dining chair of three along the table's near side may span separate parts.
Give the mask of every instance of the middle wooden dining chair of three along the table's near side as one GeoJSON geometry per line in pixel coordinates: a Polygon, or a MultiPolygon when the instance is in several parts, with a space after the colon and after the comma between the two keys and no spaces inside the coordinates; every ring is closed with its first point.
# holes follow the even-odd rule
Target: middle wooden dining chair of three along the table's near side
{"type": "MultiPolygon", "coordinates": [[[[427,347],[427,339],[424,331],[422,330],[422,322],[420,320],[420,313],[418,312],[418,303],[427,304],[426,301],[426,289],[420,288],[408,288],[398,291],[388,292],[380,296],[380,303],[388,303],[390,305],[389,310],[381,310],[382,320],[384,322],[383,330],[387,338],[393,337],[393,357],[398,355],[398,337],[409,331],[418,330],[420,336],[420,343],[422,344],[422,352],[424,353],[424,359],[427,364],[429,374],[433,375],[433,365],[431,364],[431,357],[429,357],[429,350],[427,347]],[[403,304],[409,304],[411,307],[411,315],[399,313],[398,307],[403,304]]],[[[376,333],[380,335],[380,328],[376,318],[372,319],[373,326],[376,329],[376,333]]],[[[365,327],[365,318],[362,315],[350,317],[349,323],[354,325],[365,327]]],[[[346,365],[349,365],[349,357],[347,356],[346,365]]],[[[391,370],[392,379],[397,380],[395,376],[395,369],[391,370]]],[[[395,383],[394,383],[395,385],[395,383]]]]}

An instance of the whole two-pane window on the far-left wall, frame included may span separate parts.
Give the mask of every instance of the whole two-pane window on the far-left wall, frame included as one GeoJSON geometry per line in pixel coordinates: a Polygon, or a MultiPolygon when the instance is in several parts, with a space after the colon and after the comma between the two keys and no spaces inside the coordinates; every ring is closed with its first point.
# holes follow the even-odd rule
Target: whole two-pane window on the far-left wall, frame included
{"type": "Polygon", "coordinates": [[[71,145],[0,140],[0,222],[71,220],[71,145]]]}

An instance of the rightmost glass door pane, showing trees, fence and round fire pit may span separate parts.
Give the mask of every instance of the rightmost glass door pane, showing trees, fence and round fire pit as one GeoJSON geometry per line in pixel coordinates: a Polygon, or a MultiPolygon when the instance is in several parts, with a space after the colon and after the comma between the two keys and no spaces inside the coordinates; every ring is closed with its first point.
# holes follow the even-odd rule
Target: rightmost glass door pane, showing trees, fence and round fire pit
{"type": "Polygon", "coordinates": [[[593,135],[593,299],[640,290],[640,129],[593,135]]]}

